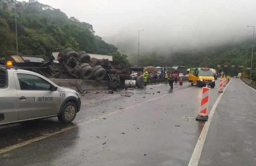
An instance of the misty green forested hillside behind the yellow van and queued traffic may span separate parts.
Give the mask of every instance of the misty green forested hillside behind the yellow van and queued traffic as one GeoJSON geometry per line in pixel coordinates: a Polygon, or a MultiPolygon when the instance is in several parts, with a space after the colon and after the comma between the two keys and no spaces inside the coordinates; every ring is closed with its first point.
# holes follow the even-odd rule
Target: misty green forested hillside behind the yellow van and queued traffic
{"type": "MultiPolygon", "coordinates": [[[[256,50],[256,45],[254,46],[256,50]]],[[[252,58],[252,39],[236,44],[225,44],[219,47],[209,47],[204,49],[187,50],[170,53],[151,53],[140,55],[140,66],[188,66],[191,67],[209,67],[218,69],[219,72],[225,72],[227,75],[237,75],[245,71],[246,55],[247,68],[251,66],[252,58]],[[243,65],[244,68],[218,68],[218,65],[243,65]]],[[[254,51],[255,52],[255,51],[254,51]]],[[[138,54],[129,57],[131,63],[138,64],[138,54]]],[[[250,76],[250,70],[247,70],[250,76]]],[[[253,55],[252,79],[256,80],[256,54],[253,55]]]]}

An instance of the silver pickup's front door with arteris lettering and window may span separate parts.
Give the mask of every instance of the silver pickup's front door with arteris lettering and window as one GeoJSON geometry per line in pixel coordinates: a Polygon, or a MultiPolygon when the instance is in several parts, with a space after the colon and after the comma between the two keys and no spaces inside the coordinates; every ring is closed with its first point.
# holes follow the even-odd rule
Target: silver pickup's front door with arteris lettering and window
{"type": "Polygon", "coordinates": [[[51,90],[51,84],[33,73],[14,72],[17,89],[19,120],[57,115],[60,94],[51,90]]]}

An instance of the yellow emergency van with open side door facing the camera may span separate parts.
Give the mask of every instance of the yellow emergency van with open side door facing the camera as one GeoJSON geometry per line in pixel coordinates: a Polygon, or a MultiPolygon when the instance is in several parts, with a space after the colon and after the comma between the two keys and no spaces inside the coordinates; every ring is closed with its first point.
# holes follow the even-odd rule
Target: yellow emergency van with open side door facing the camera
{"type": "Polygon", "coordinates": [[[215,87],[213,72],[210,68],[190,68],[188,74],[188,82],[196,86],[215,87]]]}

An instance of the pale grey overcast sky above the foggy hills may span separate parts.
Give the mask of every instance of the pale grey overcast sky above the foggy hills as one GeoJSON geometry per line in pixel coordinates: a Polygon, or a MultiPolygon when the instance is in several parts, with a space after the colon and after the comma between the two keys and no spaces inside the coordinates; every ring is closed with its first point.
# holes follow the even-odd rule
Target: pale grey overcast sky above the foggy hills
{"type": "Polygon", "coordinates": [[[252,36],[256,0],[38,0],[90,23],[114,44],[206,45],[252,36]]]}

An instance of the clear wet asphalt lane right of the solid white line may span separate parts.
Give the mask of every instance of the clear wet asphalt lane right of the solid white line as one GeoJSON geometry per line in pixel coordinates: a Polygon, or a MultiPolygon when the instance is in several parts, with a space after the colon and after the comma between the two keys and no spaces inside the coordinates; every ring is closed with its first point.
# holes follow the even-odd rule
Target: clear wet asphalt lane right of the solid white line
{"type": "Polygon", "coordinates": [[[216,108],[198,166],[256,165],[256,91],[233,79],[216,108]]]}

